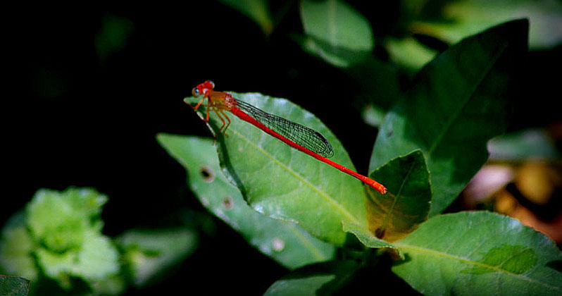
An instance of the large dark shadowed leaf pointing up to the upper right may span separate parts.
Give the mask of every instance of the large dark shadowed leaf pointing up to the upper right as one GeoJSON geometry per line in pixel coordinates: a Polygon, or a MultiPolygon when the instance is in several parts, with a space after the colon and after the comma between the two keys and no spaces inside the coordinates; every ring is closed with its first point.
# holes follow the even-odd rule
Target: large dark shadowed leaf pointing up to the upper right
{"type": "Polygon", "coordinates": [[[527,20],[499,25],[425,66],[387,113],[370,171],[421,149],[431,176],[430,216],[451,204],[487,160],[487,141],[505,130],[513,73],[527,51],[527,27],[527,20]]]}

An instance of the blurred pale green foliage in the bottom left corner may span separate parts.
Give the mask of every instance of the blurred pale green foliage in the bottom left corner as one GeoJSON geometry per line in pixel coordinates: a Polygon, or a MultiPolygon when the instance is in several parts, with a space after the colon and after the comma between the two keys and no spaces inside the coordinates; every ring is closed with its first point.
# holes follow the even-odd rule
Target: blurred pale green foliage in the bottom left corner
{"type": "Polygon", "coordinates": [[[195,248],[189,228],[130,230],[113,242],[101,233],[107,200],[89,188],[39,190],[2,229],[0,272],[33,280],[30,295],[118,295],[129,281],[146,285],[195,248]]]}

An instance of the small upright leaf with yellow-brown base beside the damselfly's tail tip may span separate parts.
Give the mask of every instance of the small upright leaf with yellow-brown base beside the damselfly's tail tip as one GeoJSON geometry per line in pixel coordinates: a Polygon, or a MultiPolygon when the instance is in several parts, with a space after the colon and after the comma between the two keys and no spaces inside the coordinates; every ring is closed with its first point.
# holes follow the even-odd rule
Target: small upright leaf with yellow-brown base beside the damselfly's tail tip
{"type": "Polygon", "coordinates": [[[430,211],[430,173],[423,152],[399,156],[370,174],[385,180],[386,195],[366,190],[369,230],[377,238],[394,242],[404,238],[427,219],[430,211]]]}

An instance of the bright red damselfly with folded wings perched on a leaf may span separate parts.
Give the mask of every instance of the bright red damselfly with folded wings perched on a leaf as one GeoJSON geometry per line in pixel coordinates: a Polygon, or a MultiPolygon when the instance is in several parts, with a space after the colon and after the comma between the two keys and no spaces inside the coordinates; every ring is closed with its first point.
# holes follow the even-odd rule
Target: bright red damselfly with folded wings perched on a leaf
{"type": "Polygon", "coordinates": [[[227,92],[218,92],[214,90],[214,88],[215,83],[211,80],[207,80],[194,87],[192,90],[193,96],[202,97],[195,106],[192,106],[192,108],[197,110],[201,105],[206,107],[206,116],[203,118],[205,122],[208,122],[209,113],[211,111],[216,113],[220,121],[223,123],[223,125],[219,128],[217,135],[221,132],[224,134],[229,127],[231,121],[227,116],[227,113],[225,113],[226,111],[229,111],[238,118],[242,119],[242,121],[246,121],[247,123],[254,125],[256,128],[263,130],[263,132],[266,132],[268,135],[275,137],[277,140],[284,142],[290,147],[293,147],[300,152],[304,152],[305,154],[308,154],[325,164],[337,168],[339,171],[357,178],[361,182],[372,187],[374,190],[377,190],[377,192],[380,192],[382,195],[387,193],[387,188],[384,185],[330,160],[330,157],[334,156],[334,149],[332,148],[330,142],[328,142],[328,140],[320,134],[320,132],[258,109],[251,104],[236,99],[232,96],[232,94],[228,94],[227,92]],[[206,104],[204,104],[205,99],[207,99],[206,104]]]}

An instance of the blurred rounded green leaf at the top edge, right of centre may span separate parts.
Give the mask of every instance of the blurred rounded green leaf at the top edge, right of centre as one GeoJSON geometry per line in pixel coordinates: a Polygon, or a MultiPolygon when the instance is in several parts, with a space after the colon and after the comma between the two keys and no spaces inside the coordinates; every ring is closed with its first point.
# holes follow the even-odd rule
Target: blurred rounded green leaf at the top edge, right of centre
{"type": "Polygon", "coordinates": [[[373,32],[368,20],[338,0],[301,1],[301,20],[306,51],[335,66],[358,63],[373,51],[373,32]]]}

